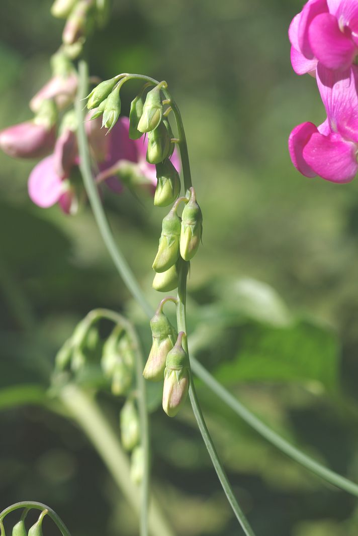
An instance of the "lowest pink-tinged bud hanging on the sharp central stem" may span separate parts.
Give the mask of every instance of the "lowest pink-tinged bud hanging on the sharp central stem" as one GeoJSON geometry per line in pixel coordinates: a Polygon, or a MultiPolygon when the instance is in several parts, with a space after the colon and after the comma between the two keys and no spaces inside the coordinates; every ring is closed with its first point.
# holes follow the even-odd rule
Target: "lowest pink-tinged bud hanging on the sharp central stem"
{"type": "Polygon", "coordinates": [[[163,410],[169,417],[174,417],[188,394],[189,389],[189,358],[182,347],[185,333],[178,334],[174,348],[168,353],[164,371],[163,410]]]}

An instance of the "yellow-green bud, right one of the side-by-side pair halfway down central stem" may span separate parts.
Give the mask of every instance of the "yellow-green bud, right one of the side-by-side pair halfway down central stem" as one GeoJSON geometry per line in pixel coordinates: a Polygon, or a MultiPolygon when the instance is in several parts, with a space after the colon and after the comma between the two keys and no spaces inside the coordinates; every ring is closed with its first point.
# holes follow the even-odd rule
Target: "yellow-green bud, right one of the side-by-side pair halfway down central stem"
{"type": "Polygon", "coordinates": [[[190,191],[190,199],[181,214],[180,255],[184,260],[194,257],[202,235],[202,213],[196,203],[194,188],[190,191]]]}

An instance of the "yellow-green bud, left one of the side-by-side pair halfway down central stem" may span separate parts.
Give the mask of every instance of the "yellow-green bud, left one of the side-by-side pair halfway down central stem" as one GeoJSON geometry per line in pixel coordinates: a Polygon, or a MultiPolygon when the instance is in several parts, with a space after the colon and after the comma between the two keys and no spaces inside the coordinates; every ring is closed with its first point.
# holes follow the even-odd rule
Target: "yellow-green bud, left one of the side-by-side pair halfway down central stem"
{"type": "Polygon", "coordinates": [[[175,264],[179,257],[180,218],[174,206],[163,219],[159,248],[152,268],[156,272],[165,272],[175,264]]]}

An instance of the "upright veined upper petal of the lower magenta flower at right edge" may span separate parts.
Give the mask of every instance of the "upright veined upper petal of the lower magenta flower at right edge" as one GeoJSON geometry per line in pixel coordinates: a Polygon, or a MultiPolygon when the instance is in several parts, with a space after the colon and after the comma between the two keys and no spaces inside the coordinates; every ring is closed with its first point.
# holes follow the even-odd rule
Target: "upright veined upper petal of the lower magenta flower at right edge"
{"type": "Polygon", "coordinates": [[[358,66],[333,72],[319,63],[317,84],[331,130],[358,143],[358,66]]]}

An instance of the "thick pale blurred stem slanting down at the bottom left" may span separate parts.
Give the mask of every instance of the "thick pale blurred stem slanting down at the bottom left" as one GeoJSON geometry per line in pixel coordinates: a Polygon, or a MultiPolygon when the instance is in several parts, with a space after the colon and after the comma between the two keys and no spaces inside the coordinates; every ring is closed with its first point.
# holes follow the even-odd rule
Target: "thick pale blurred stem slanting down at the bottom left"
{"type": "MultiPolygon", "coordinates": [[[[127,501],[138,512],[138,488],[130,479],[127,456],[96,401],[74,384],[65,385],[59,397],[96,448],[127,501]]],[[[150,503],[148,522],[153,536],[173,536],[154,498],[150,503]]]]}

